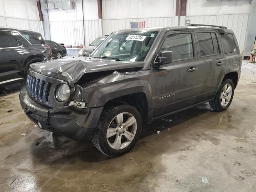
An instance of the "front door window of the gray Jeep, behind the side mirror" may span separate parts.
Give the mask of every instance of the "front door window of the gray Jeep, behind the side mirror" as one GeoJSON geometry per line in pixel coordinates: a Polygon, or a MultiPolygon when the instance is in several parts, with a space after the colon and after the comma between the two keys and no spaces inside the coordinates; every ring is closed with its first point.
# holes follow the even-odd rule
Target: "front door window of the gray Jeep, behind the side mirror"
{"type": "Polygon", "coordinates": [[[190,33],[171,34],[162,45],[160,52],[172,51],[173,60],[193,58],[193,45],[190,33]]]}

